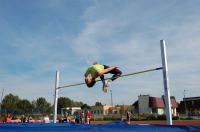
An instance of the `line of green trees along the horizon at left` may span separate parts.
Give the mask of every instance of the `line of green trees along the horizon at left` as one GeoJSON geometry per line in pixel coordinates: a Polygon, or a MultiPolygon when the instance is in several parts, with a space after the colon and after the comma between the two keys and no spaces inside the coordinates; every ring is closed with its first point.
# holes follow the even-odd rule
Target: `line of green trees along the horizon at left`
{"type": "MultiPolygon", "coordinates": [[[[96,102],[97,105],[101,105],[100,102],[96,102]]],[[[27,99],[21,99],[17,95],[6,95],[0,104],[1,113],[11,114],[52,114],[53,105],[49,103],[44,97],[39,97],[36,100],[29,101],[27,99]]],[[[86,103],[74,101],[68,97],[58,98],[58,114],[61,113],[61,108],[66,107],[81,107],[82,109],[90,109],[90,106],[86,103]]]]}

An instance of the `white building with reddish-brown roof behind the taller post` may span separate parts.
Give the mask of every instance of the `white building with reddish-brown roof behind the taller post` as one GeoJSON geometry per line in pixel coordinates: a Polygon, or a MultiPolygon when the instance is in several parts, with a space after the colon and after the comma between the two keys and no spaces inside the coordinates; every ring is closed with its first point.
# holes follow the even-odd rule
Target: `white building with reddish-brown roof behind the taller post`
{"type": "MultiPolygon", "coordinates": [[[[171,109],[172,115],[177,116],[176,109],[178,107],[176,99],[174,96],[170,97],[171,99],[171,109]]],[[[140,95],[138,96],[138,100],[133,104],[136,109],[136,113],[142,114],[165,114],[165,103],[164,97],[151,97],[149,95],[140,95]]]]}

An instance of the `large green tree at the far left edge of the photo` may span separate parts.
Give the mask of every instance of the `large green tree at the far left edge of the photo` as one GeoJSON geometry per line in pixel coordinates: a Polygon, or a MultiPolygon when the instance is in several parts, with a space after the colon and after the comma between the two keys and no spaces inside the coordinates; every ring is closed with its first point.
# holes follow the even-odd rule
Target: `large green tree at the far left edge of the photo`
{"type": "Polygon", "coordinates": [[[5,109],[7,113],[14,113],[17,110],[17,103],[19,101],[20,99],[18,96],[10,93],[2,100],[2,109],[5,109]]]}

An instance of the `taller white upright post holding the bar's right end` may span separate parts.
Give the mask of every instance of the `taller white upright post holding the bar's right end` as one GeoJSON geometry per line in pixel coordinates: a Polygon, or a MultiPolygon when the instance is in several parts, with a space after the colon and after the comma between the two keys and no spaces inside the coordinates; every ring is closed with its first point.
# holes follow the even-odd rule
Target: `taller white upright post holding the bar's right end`
{"type": "Polygon", "coordinates": [[[164,83],[164,101],[165,101],[165,111],[167,117],[167,125],[172,125],[172,114],[171,114],[171,99],[170,99],[170,89],[168,80],[168,67],[167,67],[167,54],[165,48],[165,41],[160,40],[161,56],[162,56],[162,68],[163,68],[163,83],[164,83]]]}

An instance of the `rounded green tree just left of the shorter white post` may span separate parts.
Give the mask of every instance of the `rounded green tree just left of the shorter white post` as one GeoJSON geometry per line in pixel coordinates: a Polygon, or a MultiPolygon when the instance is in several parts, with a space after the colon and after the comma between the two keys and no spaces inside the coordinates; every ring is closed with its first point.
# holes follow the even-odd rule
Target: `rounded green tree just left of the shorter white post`
{"type": "Polygon", "coordinates": [[[45,98],[40,97],[36,100],[36,108],[37,108],[38,112],[41,114],[49,114],[51,104],[48,103],[45,98]]]}

